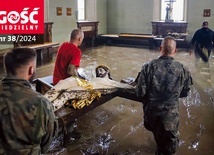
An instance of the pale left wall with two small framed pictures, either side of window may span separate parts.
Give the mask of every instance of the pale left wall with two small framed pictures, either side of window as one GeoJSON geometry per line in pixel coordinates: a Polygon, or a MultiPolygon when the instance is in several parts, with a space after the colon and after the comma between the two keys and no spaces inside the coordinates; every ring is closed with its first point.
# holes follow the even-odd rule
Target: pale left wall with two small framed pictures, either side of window
{"type": "MultiPolygon", "coordinates": [[[[107,33],[107,0],[85,0],[85,8],[86,20],[99,21],[98,34],[107,33]]],[[[49,11],[45,11],[45,19],[54,22],[52,29],[53,42],[69,40],[72,29],[77,27],[76,11],[77,0],[49,0],[49,11]],[[56,15],[56,7],[62,7],[62,16],[56,15]],[[72,16],[66,16],[67,7],[72,8],[72,16]],[[49,17],[47,16],[48,13],[49,17]]]]}

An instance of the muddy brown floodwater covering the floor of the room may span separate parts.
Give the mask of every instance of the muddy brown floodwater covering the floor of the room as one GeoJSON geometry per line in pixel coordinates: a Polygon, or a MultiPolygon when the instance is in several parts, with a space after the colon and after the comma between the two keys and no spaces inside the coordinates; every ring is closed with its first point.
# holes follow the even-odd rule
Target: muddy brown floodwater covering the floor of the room
{"type": "MultiPolygon", "coordinates": [[[[120,81],[136,77],[144,63],[158,56],[158,50],[100,46],[83,51],[81,67],[91,78],[97,65],[106,64],[111,68],[113,80],[120,81]]],[[[178,49],[175,59],[189,68],[194,83],[189,96],[180,99],[180,147],[176,155],[213,155],[214,58],[210,58],[209,64],[196,62],[194,55],[178,49]]],[[[37,75],[47,76],[52,70],[53,63],[49,62],[38,67],[37,75]]],[[[57,151],[52,154],[154,154],[156,144],[151,132],[144,128],[140,102],[116,97],[77,119],[76,125],[80,139],[70,138],[66,148],[55,147],[57,151]]],[[[55,144],[60,144],[62,138],[55,144]]]]}

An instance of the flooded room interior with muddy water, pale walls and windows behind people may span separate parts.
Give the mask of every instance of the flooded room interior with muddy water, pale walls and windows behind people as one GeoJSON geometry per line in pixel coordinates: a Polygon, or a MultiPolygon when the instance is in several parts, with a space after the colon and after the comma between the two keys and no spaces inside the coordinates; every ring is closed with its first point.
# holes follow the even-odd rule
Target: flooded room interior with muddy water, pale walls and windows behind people
{"type": "MultiPolygon", "coordinates": [[[[78,28],[84,33],[78,46],[78,72],[90,81],[96,77],[96,67],[105,65],[112,80],[121,83],[136,79],[143,65],[158,59],[163,39],[172,36],[177,43],[174,59],[188,68],[193,82],[188,96],[179,98],[180,141],[175,155],[213,155],[214,32],[206,62],[197,58],[196,47],[191,44],[204,22],[214,30],[213,8],[213,0],[44,0],[44,34],[33,34],[36,43],[0,40],[0,78],[6,76],[3,57],[8,51],[34,49],[37,65],[33,89],[44,96],[53,87],[57,52],[78,28]]],[[[82,109],[63,105],[65,111],[55,111],[61,123],[75,122],[71,130],[76,134],[66,137],[59,133],[45,154],[154,155],[156,141],[144,127],[143,104],[125,93],[103,96],[82,109]],[[61,117],[63,112],[66,118],[61,117]]],[[[59,128],[69,132],[64,126],[59,128]]]]}

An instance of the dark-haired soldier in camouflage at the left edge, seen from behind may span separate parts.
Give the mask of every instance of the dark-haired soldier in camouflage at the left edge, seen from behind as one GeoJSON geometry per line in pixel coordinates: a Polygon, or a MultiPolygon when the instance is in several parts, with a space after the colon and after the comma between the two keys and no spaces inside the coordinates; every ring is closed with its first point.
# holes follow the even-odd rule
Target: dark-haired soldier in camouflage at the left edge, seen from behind
{"type": "Polygon", "coordinates": [[[0,84],[0,154],[39,155],[57,131],[52,104],[33,90],[36,52],[14,48],[4,56],[0,84]]]}

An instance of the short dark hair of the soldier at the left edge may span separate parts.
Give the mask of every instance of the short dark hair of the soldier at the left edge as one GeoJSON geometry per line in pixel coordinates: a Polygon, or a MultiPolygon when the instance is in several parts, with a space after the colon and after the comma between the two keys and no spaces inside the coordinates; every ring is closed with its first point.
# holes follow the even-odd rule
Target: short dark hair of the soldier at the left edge
{"type": "Polygon", "coordinates": [[[4,55],[3,63],[7,74],[16,75],[17,69],[36,58],[36,51],[31,48],[17,47],[4,55]]]}

